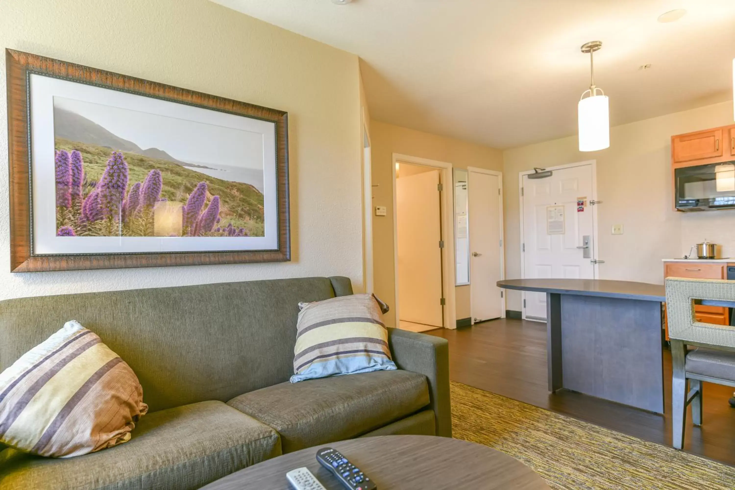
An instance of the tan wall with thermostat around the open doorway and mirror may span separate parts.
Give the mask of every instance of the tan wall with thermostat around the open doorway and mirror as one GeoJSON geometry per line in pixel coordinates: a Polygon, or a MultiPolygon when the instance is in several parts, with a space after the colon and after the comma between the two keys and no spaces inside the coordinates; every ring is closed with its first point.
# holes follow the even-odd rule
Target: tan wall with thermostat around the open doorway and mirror
{"type": "MultiPolygon", "coordinates": [[[[370,123],[370,137],[373,143],[373,185],[378,184],[378,187],[373,187],[373,207],[387,208],[387,216],[374,216],[373,213],[375,292],[390,303],[395,298],[392,154],[448,162],[458,168],[481,167],[498,171],[503,170],[503,156],[495,148],[414,131],[377,120],[370,123]]],[[[470,287],[458,286],[455,292],[456,317],[470,317],[470,287]]],[[[392,312],[386,315],[386,322],[388,325],[395,325],[392,312]]]]}

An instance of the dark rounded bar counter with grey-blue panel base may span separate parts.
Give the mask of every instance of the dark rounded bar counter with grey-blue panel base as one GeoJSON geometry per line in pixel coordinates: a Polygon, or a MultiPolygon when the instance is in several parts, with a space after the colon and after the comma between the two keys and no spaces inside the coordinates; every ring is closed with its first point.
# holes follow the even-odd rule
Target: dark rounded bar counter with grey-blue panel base
{"type": "Polygon", "coordinates": [[[598,279],[512,279],[546,295],[548,389],[664,413],[664,286],[598,279]]]}

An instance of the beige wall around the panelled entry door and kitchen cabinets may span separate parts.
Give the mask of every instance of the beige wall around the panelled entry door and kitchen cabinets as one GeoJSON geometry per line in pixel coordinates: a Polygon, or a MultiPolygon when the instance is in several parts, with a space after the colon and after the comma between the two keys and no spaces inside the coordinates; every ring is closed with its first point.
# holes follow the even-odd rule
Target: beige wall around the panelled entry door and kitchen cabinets
{"type": "MultiPolygon", "coordinates": [[[[577,137],[503,152],[506,277],[520,278],[518,173],[597,160],[600,278],[663,283],[661,259],[681,256],[692,243],[709,239],[735,256],[735,211],[686,214],[673,211],[670,137],[733,123],[732,102],[700,107],[616,126],[610,148],[582,153],[577,137]],[[622,235],[612,235],[614,224],[622,235]]],[[[508,309],[519,310],[520,293],[508,292],[508,309]]]]}

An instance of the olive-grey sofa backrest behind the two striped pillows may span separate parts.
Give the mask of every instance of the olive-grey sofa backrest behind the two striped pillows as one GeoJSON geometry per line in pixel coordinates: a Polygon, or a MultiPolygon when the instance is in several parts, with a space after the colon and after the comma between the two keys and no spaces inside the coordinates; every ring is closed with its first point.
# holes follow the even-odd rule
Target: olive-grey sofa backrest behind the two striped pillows
{"type": "Polygon", "coordinates": [[[287,381],[300,301],[351,294],[346,278],[132,289],[0,302],[0,371],[68,320],[132,367],[150,411],[287,381]],[[334,286],[333,286],[334,284],[334,286]]]}

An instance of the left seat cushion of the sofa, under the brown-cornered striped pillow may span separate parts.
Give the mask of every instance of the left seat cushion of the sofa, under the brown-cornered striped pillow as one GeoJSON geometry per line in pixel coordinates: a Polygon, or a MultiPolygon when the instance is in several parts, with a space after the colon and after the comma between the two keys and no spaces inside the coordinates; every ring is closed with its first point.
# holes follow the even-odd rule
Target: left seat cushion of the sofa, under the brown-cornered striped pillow
{"type": "Polygon", "coordinates": [[[76,458],[0,453],[0,490],[198,489],[281,454],[279,435],[222,402],[140,419],[125,444],[76,458]]]}

